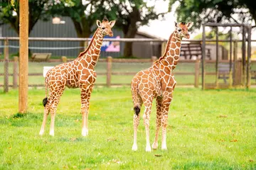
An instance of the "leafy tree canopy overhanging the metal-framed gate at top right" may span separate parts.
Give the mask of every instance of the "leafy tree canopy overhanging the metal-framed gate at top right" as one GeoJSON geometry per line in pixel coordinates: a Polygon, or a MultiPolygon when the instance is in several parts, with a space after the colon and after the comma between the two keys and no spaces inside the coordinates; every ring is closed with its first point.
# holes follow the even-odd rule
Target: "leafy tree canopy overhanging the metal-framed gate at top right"
{"type": "MultiPolygon", "coordinates": [[[[253,0],[178,0],[178,21],[193,21],[200,28],[202,23],[256,23],[256,3],[253,0]]],[[[170,0],[169,10],[176,0],[170,0]]]]}

